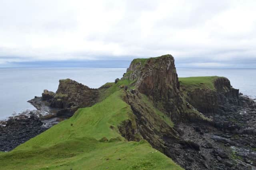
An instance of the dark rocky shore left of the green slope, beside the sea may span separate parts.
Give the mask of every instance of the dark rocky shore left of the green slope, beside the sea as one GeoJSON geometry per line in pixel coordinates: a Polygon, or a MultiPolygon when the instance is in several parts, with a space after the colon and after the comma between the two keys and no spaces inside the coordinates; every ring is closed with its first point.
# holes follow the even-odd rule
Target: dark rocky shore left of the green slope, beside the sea
{"type": "Polygon", "coordinates": [[[44,98],[48,98],[45,92],[28,101],[37,110],[26,110],[0,121],[0,151],[10,151],[67,118],[58,116],[60,109],[51,107],[44,98]]]}

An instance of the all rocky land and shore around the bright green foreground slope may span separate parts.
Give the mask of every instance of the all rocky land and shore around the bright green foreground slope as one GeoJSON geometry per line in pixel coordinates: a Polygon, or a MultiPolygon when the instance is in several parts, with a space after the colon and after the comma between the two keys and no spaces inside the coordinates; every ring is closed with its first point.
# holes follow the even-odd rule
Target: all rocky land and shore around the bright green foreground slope
{"type": "Polygon", "coordinates": [[[98,89],[60,80],[56,93],[44,90],[28,101],[38,112],[0,126],[0,149],[11,150],[117,91],[132,115],[110,130],[126,141],[146,140],[186,170],[256,169],[256,103],[224,77],[178,78],[171,55],[134,59],[120,80],[98,89]]]}

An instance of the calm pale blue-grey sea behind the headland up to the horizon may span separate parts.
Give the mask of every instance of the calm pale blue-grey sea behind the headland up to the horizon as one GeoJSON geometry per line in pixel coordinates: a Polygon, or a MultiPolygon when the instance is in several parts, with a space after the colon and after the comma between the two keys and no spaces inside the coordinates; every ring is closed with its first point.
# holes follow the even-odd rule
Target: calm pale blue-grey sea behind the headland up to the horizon
{"type": "MultiPolygon", "coordinates": [[[[90,88],[121,78],[126,68],[0,68],[0,119],[34,109],[28,100],[44,89],[55,92],[58,80],[71,78],[90,88]]],[[[256,69],[177,68],[179,77],[225,76],[234,88],[256,98],[256,69]]]]}

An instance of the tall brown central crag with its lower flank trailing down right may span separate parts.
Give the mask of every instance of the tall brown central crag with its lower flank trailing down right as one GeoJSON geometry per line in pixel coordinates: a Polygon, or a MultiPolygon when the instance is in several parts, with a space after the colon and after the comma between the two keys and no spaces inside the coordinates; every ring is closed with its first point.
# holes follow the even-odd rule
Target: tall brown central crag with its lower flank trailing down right
{"type": "Polygon", "coordinates": [[[122,79],[134,81],[135,88],[152,98],[156,106],[173,121],[200,118],[199,113],[180,96],[172,55],[134,59],[122,79]],[[188,110],[190,115],[186,114],[188,110]]]}

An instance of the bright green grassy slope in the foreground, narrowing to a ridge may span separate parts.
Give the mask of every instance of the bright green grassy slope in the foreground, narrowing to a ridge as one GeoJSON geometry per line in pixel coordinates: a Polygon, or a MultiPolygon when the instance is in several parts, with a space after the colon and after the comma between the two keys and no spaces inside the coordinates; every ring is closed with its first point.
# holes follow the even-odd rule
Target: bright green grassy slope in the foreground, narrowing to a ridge
{"type": "Polygon", "coordinates": [[[181,169],[146,141],[128,142],[121,137],[118,125],[133,119],[132,110],[122,101],[122,95],[122,90],[114,92],[92,107],[79,109],[70,119],[11,152],[0,153],[0,168],[181,169]],[[102,137],[109,141],[99,142],[102,137]]]}

